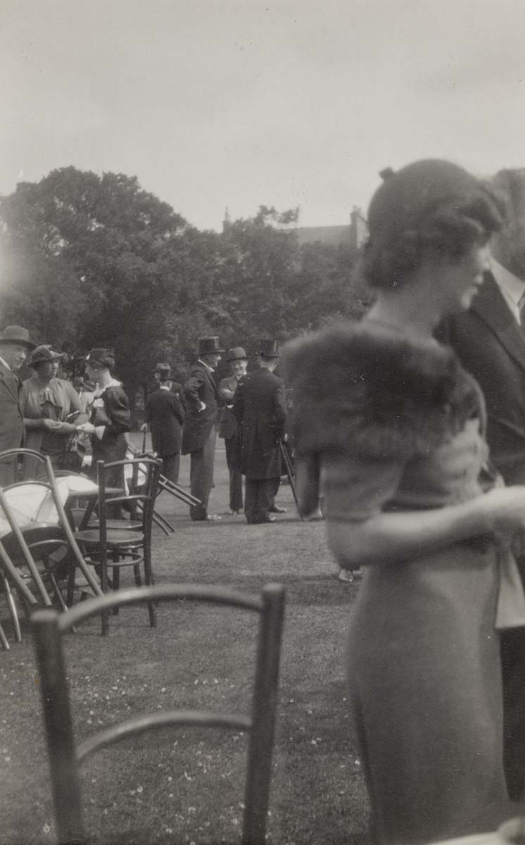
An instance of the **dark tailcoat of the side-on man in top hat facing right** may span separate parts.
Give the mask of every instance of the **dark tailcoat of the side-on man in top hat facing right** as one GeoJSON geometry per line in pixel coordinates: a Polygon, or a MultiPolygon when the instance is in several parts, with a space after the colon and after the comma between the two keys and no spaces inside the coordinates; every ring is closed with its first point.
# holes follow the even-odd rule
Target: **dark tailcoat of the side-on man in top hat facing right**
{"type": "Polygon", "coordinates": [[[193,365],[184,385],[187,404],[186,419],[182,432],[182,455],[202,449],[217,418],[219,393],[213,373],[208,372],[202,363],[193,365]],[[200,410],[201,402],[206,405],[200,410]]]}

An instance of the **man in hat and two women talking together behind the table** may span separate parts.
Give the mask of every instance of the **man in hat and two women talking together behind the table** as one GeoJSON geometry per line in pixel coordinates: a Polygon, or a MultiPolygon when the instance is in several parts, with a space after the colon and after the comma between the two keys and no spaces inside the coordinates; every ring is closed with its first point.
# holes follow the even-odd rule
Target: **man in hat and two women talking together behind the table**
{"type": "MultiPolygon", "coordinates": [[[[89,474],[96,477],[97,461],[119,461],[126,455],[131,413],[122,384],[114,379],[112,353],[91,350],[85,359],[86,375],[94,390],[89,402],[73,384],[57,376],[63,358],[49,344],[35,346],[23,326],[8,326],[0,335],[0,451],[22,447],[48,455],[55,469],[80,469],[78,438],[89,439],[89,474]],[[18,371],[29,363],[34,375],[22,382],[18,371]],[[78,466],[72,463],[77,457],[78,466]]],[[[17,457],[0,461],[0,484],[18,480],[17,457]]],[[[24,478],[34,477],[36,464],[27,457],[24,478]]],[[[110,482],[122,487],[122,473],[110,482]]]]}

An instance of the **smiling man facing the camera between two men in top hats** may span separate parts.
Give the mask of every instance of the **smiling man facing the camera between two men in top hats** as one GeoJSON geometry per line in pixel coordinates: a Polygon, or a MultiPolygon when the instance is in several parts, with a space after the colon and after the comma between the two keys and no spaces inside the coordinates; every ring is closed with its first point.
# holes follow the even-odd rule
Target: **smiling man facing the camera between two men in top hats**
{"type": "Polygon", "coordinates": [[[237,384],[246,375],[248,359],[242,346],[235,346],[228,351],[226,361],[230,363],[231,375],[228,379],[222,379],[219,384],[219,399],[225,402],[219,437],[225,440],[226,463],[230,471],[230,514],[236,515],[242,510],[242,470],[233,401],[237,384]]]}

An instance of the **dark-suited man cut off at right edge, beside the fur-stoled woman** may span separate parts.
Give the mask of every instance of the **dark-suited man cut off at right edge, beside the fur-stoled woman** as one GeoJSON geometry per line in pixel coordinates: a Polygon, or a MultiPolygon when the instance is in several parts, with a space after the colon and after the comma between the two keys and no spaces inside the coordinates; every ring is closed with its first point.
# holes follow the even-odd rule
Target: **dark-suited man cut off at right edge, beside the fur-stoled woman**
{"type": "MultiPolygon", "coordinates": [[[[491,244],[491,270],[468,311],[441,326],[487,405],[490,458],[506,484],[525,484],[525,169],[499,172],[493,187],[506,221],[491,244]]],[[[525,544],[517,564],[525,581],[525,544]]],[[[504,762],[511,799],[525,785],[525,629],[501,632],[504,762]]]]}

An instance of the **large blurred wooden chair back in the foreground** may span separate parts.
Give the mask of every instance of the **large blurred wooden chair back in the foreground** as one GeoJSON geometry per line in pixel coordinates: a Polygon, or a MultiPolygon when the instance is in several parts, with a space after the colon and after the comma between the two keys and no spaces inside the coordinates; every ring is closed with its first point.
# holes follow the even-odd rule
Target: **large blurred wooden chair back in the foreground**
{"type": "Polygon", "coordinates": [[[41,702],[46,725],[57,842],[85,841],[78,767],[95,750],[144,731],[166,726],[229,728],[249,732],[246,766],[243,845],[264,845],[268,815],[273,732],[279,680],[279,655],[284,618],[284,588],[264,587],[260,597],[213,586],[192,584],[149,586],[88,599],[66,613],[38,610],[31,619],[38,664],[41,702]],[[259,617],[252,715],[209,711],[156,711],[134,717],[91,736],[78,747],[73,736],[71,705],[62,636],[84,619],[120,605],[138,603],[207,602],[256,612],[259,617]]]}

